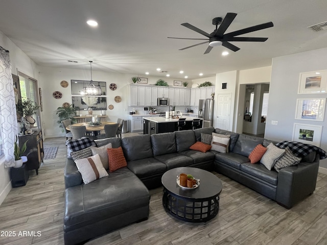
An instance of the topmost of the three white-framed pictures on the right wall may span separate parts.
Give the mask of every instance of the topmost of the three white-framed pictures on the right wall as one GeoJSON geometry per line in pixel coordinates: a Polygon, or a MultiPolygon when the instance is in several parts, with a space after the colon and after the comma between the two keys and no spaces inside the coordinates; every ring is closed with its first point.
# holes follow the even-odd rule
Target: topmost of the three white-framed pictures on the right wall
{"type": "Polygon", "coordinates": [[[327,93],[327,70],[300,73],[298,93],[327,93]]]}

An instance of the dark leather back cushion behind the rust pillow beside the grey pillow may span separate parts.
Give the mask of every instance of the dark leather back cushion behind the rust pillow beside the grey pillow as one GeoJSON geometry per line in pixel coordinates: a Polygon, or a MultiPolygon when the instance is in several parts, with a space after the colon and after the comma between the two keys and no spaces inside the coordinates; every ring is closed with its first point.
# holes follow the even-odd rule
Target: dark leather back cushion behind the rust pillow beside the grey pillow
{"type": "Polygon", "coordinates": [[[248,157],[255,148],[255,146],[258,144],[262,144],[263,141],[263,138],[240,134],[232,152],[248,157]]]}

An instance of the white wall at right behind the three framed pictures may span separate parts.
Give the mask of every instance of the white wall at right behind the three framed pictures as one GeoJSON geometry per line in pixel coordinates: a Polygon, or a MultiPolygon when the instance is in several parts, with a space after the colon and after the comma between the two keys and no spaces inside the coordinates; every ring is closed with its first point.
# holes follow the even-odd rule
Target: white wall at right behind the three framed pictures
{"type": "MultiPolygon", "coordinates": [[[[273,140],[292,140],[294,122],[322,125],[320,148],[327,151],[327,116],[323,122],[295,120],[297,99],[326,98],[326,94],[297,94],[300,72],[325,70],[327,48],[282,56],[273,59],[269,93],[269,107],[265,137],[273,140]],[[271,125],[271,120],[278,125],[271,125]]],[[[325,113],[326,114],[326,113],[325,113]]],[[[327,159],[320,160],[327,168],[327,159]]]]}

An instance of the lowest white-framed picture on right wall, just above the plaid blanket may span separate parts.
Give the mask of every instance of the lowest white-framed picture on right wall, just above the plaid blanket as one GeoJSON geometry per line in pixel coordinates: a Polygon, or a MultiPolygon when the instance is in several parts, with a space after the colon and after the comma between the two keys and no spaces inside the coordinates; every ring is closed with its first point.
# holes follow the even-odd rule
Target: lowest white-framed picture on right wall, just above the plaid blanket
{"type": "Polygon", "coordinates": [[[321,133],[322,126],[294,124],[292,140],[320,147],[321,133]]]}

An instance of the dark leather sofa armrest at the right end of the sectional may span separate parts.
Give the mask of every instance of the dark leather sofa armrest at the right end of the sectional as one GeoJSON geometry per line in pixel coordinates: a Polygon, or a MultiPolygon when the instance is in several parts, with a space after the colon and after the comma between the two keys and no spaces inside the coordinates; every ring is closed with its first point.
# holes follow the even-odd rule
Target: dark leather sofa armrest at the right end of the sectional
{"type": "Polygon", "coordinates": [[[282,168],[278,173],[276,202],[291,208],[313,193],[316,188],[319,161],[300,162],[296,166],[282,168]]]}

